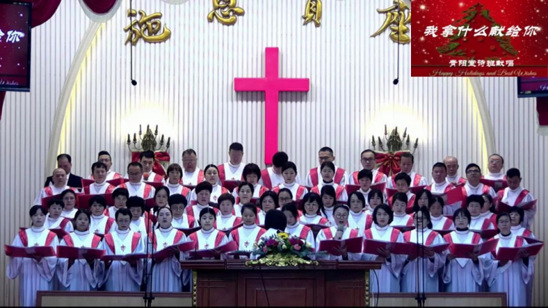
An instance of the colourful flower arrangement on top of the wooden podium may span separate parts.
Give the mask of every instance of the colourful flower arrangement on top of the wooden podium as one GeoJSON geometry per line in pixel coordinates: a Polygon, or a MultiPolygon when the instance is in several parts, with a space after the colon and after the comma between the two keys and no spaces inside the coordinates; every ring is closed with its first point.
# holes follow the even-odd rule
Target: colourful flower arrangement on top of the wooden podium
{"type": "Polygon", "coordinates": [[[290,237],[288,233],[280,232],[271,235],[270,238],[262,238],[253,245],[253,254],[259,257],[272,254],[296,255],[305,258],[314,254],[312,245],[296,236],[290,237]]]}

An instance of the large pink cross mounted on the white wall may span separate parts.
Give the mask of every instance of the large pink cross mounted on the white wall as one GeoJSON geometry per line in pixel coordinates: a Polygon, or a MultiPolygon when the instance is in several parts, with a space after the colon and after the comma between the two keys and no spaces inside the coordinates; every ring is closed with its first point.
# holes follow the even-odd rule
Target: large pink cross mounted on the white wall
{"type": "Polygon", "coordinates": [[[278,149],[278,103],[279,92],[308,92],[308,78],[279,77],[279,49],[267,47],[265,53],[264,78],[234,78],[234,91],[264,92],[264,163],[272,164],[272,155],[278,149]]]}

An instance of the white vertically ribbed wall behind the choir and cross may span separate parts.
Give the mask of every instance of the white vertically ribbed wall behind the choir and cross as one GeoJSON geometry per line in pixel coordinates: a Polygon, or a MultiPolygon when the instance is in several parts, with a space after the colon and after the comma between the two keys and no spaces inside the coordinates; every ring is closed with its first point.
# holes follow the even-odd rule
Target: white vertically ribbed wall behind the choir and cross
{"type": "MultiPolygon", "coordinates": [[[[245,162],[264,166],[264,97],[236,94],[233,79],[262,77],[265,47],[279,47],[283,77],[311,81],[308,94],[280,96],[279,149],[297,163],[302,176],[317,164],[317,150],[325,145],[335,150],[338,165],[357,170],[360,152],[370,146],[372,134],[384,131],[384,124],[401,131],[408,127],[412,139],[419,138],[415,166],[423,175],[446,155],[459,157],[461,171],[469,162],[484,166],[488,153],[469,79],[411,79],[406,45],[400,47],[400,84],[393,86],[397,44],[388,32],[369,37],[384,21],[376,9],[391,1],[323,1],[321,28],[302,26],[306,1],[239,0],[246,14],[233,27],[207,22],[211,1],[134,3],[149,14],[162,12],[162,22],[173,31],[171,40],[138,44],[138,86],[133,87],[122,29],[129,23],[129,1],[97,31],[76,79],[64,128],[55,132],[61,133],[59,152],[73,155],[76,174],[88,175],[103,149],[113,155],[113,168],[124,173],[130,160],[127,133],[133,135],[139,124],[158,124],[160,133],[171,136],[172,162],[180,164],[182,151],[192,147],[199,153],[199,166],[219,164],[227,160],[229,144],[238,141],[244,144],[245,162]]],[[[31,94],[8,94],[0,121],[0,207],[13,214],[2,218],[0,244],[11,242],[17,227],[27,223],[27,209],[46,176],[55,106],[87,25],[77,1],[63,1],[54,18],[34,31],[31,94]],[[62,29],[68,32],[62,34],[62,29]]],[[[525,185],[547,201],[542,189],[547,138],[535,133],[532,100],[515,99],[514,81],[482,81],[496,148],[507,168],[523,170],[525,185]]],[[[540,217],[548,217],[543,209],[540,217]]],[[[539,222],[544,220],[538,218],[534,231],[543,238],[546,230],[539,222]]],[[[6,260],[0,258],[5,277],[6,260]]],[[[546,260],[545,253],[542,258],[546,260]]],[[[545,305],[540,263],[535,299],[545,305]]],[[[15,283],[0,280],[0,288],[5,305],[17,303],[11,292],[15,283]]]]}

